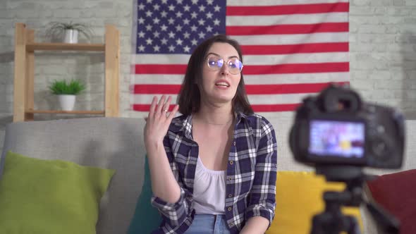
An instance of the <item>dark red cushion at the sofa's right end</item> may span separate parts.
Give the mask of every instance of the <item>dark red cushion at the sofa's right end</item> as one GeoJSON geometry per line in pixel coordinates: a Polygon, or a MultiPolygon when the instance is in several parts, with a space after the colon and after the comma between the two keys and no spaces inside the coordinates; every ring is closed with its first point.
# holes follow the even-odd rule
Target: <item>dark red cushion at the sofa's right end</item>
{"type": "Polygon", "coordinates": [[[416,233],[416,169],[367,181],[370,197],[400,220],[400,233],[416,233]]]}

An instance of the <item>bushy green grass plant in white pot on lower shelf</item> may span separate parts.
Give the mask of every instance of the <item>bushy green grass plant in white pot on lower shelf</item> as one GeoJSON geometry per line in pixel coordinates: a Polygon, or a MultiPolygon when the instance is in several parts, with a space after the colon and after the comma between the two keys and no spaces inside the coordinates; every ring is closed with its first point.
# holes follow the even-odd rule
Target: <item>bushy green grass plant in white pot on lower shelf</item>
{"type": "Polygon", "coordinates": [[[75,105],[76,95],[85,90],[85,85],[80,80],[54,80],[49,85],[52,94],[58,95],[59,104],[63,111],[72,111],[75,105]]]}

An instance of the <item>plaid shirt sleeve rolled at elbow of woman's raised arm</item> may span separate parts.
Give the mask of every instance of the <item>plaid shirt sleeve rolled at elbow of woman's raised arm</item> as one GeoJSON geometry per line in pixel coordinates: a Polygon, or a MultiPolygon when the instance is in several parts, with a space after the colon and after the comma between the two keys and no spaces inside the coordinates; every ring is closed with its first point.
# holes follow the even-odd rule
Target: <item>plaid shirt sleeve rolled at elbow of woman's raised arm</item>
{"type": "Polygon", "coordinates": [[[169,164],[171,165],[173,176],[175,176],[176,181],[178,181],[178,184],[181,187],[181,197],[178,202],[170,203],[159,197],[152,196],[151,202],[152,205],[159,210],[159,213],[164,219],[164,223],[167,223],[172,229],[175,229],[181,226],[186,218],[192,213],[192,195],[188,190],[184,189],[183,183],[181,183],[182,179],[179,175],[178,165],[173,158],[171,143],[169,142],[169,133],[164,138],[164,148],[169,159],[169,164]]]}

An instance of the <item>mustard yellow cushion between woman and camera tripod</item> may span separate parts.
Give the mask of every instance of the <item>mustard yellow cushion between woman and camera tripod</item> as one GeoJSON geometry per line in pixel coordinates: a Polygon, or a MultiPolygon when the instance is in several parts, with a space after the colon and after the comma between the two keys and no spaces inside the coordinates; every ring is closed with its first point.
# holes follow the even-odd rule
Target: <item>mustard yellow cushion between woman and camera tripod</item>
{"type": "MultiPolygon", "coordinates": [[[[345,183],[327,183],[314,172],[279,171],[276,181],[276,215],[267,234],[308,234],[312,217],[324,210],[322,194],[326,190],[341,191],[345,183]]],[[[343,214],[357,218],[362,228],[359,208],[343,208],[343,214]]]]}

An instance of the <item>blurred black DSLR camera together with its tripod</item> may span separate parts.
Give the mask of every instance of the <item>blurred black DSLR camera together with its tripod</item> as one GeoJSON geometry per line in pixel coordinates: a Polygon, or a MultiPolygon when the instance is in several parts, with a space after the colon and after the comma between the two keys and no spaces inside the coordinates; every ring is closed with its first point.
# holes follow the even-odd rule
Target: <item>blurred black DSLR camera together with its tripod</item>
{"type": "Polygon", "coordinates": [[[365,203],[382,233],[398,234],[400,221],[376,202],[362,197],[362,185],[374,177],[362,168],[400,168],[405,146],[403,116],[396,110],[365,103],[348,87],[329,85],[307,97],[295,113],[290,129],[295,160],[314,166],[328,181],[345,183],[345,190],[326,191],[325,209],[312,218],[312,234],[359,234],[353,216],[341,207],[365,203]]]}

